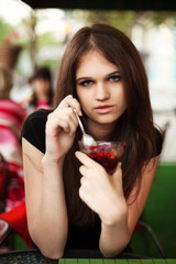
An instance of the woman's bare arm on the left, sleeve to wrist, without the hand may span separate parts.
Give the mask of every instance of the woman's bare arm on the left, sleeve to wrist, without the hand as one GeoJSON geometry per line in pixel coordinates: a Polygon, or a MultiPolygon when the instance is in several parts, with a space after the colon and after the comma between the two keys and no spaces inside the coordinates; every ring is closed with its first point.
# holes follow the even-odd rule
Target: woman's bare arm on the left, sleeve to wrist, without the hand
{"type": "Polygon", "coordinates": [[[47,161],[25,139],[22,143],[29,232],[44,255],[57,258],[67,238],[62,166],[47,161]]]}

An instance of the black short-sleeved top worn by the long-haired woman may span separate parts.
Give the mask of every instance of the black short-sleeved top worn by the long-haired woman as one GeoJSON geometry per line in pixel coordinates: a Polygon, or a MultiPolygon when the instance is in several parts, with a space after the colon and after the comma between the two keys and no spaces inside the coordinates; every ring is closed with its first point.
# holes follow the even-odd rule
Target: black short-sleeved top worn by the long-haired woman
{"type": "MultiPolygon", "coordinates": [[[[52,110],[40,109],[31,113],[25,119],[21,132],[21,139],[23,136],[42,153],[45,153],[45,124],[47,116],[51,111],[52,110]]],[[[158,130],[156,130],[156,155],[158,155],[162,151],[163,139],[158,130]]],[[[66,248],[98,250],[100,230],[100,222],[98,222],[95,227],[87,229],[69,226],[66,248]]]]}

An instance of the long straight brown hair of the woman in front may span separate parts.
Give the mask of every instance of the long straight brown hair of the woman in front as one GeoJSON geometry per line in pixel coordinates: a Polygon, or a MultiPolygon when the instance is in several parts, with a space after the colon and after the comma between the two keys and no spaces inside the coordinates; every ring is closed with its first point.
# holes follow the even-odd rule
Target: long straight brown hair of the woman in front
{"type": "MultiPolygon", "coordinates": [[[[106,24],[85,26],[74,35],[63,56],[55,91],[55,107],[68,95],[78,99],[76,69],[80,57],[90,50],[100,52],[109,62],[117,65],[124,81],[128,108],[117,121],[114,133],[109,140],[127,142],[122,157],[122,170],[123,191],[128,198],[136,183],[140,188],[143,165],[155,156],[156,152],[156,133],[145,68],[138,50],[121,31],[106,24]]],[[[96,218],[78,196],[79,163],[74,153],[78,150],[79,132],[78,129],[74,145],[65,160],[64,180],[70,221],[84,226],[90,224],[96,218]]]]}

